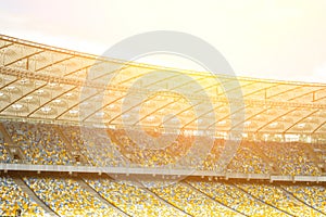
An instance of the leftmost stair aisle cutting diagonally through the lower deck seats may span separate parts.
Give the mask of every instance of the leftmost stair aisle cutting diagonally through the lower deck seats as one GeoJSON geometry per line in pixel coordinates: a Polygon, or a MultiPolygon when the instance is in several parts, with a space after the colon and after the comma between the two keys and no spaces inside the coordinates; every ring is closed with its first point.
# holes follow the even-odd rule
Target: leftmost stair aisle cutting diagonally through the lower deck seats
{"type": "Polygon", "coordinates": [[[18,176],[12,177],[14,182],[32,199],[34,200],[42,209],[45,209],[51,216],[60,216],[52,208],[50,208],[42,200],[40,200],[34,191],[23,181],[18,176]]]}

